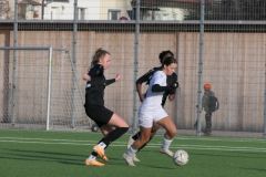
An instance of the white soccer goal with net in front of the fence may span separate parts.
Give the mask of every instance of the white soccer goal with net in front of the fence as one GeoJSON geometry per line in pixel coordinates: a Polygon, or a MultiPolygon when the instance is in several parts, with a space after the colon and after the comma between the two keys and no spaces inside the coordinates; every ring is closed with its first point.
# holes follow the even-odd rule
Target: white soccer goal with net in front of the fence
{"type": "Polygon", "coordinates": [[[66,49],[0,46],[0,127],[49,131],[92,125],[66,49]]]}

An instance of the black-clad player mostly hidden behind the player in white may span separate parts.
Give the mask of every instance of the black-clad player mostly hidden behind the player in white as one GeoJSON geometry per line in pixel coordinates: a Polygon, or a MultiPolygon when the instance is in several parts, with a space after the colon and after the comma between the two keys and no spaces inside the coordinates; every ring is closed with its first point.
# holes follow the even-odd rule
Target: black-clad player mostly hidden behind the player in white
{"type": "MultiPolygon", "coordinates": [[[[164,59],[166,59],[167,56],[174,56],[173,52],[168,51],[163,51],[158,54],[158,59],[160,59],[160,63],[162,64],[164,59]]],[[[150,70],[146,74],[142,75],[137,81],[136,81],[136,91],[140,97],[140,101],[143,102],[143,100],[145,98],[145,94],[143,95],[142,93],[142,83],[146,82],[146,84],[150,84],[150,81],[153,76],[153,74],[158,71],[161,67],[154,67],[152,70],[150,70]]],[[[166,77],[166,83],[167,84],[172,84],[174,82],[177,81],[177,75],[175,73],[173,73],[172,75],[167,75],[166,77]]],[[[175,92],[176,88],[173,88],[171,91],[166,91],[163,95],[162,98],[162,106],[164,106],[166,98],[168,96],[170,101],[173,101],[175,98],[175,92]]],[[[156,131],[160,128],[160,125],[156,124],[155,122],[153,123],[153,127],[152,127],[152,133],[151,133],[151,137],[150,140],[153,138],[153,136],[156,134],[156,131]]],[[[129,142],[127,142],[127,148],[131,147],[131,145],[141,136],[141,132],[137,132],[135,135],[130,136],[129,142]]],[[[150,142],[149,140],[149,142],[150,142]]],[[[149,143],[147,142],[147,143],[149,143]]],[[[146,144],[147,144],[146,143],[146,144]]],[[[146,146],[146,144],[144,144],[140,149],[142,149],[143,147],[146,146]]],[[[139,150],[140,150],[139,149],[139,150]]],[[[170,149],[163,149],[162,147],[160,148],[161,153],[167,154],[168,156],[173,156],[173,152],[171,152],[170,149]]],[[[134,162],[140,162],[139,158],[136,158],[136,156],[133,158],[134,162]]]]}

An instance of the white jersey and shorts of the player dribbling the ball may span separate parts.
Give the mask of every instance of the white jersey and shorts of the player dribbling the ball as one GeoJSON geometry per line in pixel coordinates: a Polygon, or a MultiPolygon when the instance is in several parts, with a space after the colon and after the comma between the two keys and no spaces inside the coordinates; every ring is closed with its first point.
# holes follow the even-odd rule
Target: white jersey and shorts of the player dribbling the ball
{"type": "Polygon", "coordinates": [[[157,122],[167,116],[161,105],[164,92],[152,92],[152,87],[155,84],[166,86],[166,74],[163,71],[157,71],[153,74],[146,97],[139,110],[139,122],[143,127],[152,127],[153,121],[157,122]]]}

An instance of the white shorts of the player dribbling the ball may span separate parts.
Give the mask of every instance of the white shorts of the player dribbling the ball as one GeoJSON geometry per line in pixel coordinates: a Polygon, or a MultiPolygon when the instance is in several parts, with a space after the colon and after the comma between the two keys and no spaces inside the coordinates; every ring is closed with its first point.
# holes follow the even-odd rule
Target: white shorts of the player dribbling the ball
{"type": "Polygon", "coordinates": [[[153,122],[156,123],[167,116],[168,114],[163,110],[163,107],[157,108],[154,113],[139,110],[139,124],[142,127],[151,128],[153,126],[153,122]]]}

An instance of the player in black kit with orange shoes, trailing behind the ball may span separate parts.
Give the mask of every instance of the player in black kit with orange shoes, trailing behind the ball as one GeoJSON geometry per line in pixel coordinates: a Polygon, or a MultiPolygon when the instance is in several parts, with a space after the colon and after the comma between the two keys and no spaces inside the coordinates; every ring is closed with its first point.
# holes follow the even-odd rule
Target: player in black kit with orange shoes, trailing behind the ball
{"type": "Polygon", "coordinates": [[[99,155],[103,160],[108,162],[104,149],[129,131],[129,124],[104,106],[105,86],[119,81],[121,77],[121,73],[119,73],[115,79],[105,80],[104,70],[109,69],[110,63],[111,54],[103,49],[98,49],[88,73],[90,81],[86,82],[85,112],[99,126],[104,137],[93,147],[93,152],[85,159],[85,165],[104,166],[104,164],[96,160],[96,156],[99,155]]]}

